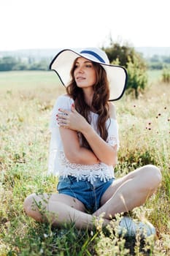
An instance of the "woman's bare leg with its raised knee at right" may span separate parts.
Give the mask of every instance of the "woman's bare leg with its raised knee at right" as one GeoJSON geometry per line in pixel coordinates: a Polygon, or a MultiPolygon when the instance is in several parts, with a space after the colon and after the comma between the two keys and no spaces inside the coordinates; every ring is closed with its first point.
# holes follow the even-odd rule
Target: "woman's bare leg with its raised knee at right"
{"type": "Polygon", "coordinates": [[[101,208],[93,216],[104,214],[112,219],[117,213],[141,206],[161,183],[161,171],[154,165],[145,165],[123,178],[117,179],[101,197],[101,208]]]}

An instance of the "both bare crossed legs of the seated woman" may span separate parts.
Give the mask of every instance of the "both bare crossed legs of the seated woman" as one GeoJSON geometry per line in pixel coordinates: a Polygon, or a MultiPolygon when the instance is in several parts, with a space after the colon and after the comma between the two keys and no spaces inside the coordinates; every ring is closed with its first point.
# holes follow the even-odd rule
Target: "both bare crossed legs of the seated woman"
{"type": "Polygon", "coordinates": [[[76,198],[57,193],[50,196],[29,195],[24,201],[24,210],[39,222],[46,220],[57,226],[74,222],[78,228],[91,229],[101,214],[103,225],[107,225],[115,214],[141,206],[160,183],[160,170],[153,165],[146,165],[114,181],[101,198],[101,208],[93,215],[86,214],[85,206],[76,198]],[[41,206],[42,211],[39,211],[38,206],[41,206]]]}

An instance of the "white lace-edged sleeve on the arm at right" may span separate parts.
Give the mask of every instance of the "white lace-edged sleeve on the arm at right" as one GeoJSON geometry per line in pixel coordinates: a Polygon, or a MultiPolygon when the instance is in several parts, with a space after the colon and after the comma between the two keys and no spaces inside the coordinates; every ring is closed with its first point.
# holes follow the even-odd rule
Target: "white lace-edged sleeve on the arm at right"
{"type": "Polygon", "coordinates": [[[120,146],[119,135],[118,135],[118,124],[117,124],[117,120],[114,118],[110,118],[107,143],[111,146],[117,145],[117,149],[120,146]]]}

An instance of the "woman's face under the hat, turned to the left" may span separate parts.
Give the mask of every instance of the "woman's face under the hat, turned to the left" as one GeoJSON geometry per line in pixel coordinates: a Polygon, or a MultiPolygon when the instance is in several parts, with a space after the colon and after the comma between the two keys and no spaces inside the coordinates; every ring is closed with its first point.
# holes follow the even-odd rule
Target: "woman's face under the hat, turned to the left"
{"type": "Polygon", "coordinates": [[[92,87],[96,83],[96,70],[93,63],[85,58],[78,58],[74,65],[74,80],[80,88],[92,87]]]}

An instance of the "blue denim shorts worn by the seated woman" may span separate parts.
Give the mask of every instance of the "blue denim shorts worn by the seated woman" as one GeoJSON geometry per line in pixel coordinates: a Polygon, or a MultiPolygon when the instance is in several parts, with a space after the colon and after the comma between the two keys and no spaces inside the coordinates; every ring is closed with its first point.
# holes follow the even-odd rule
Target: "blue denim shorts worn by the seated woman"
{"type": "Polygon", "coordinates": [[[58,193],[64,195],[70,195],[71,197],[80,200],[86,211],[93,214],[101,206],[101,197],[104,192],[108,189],[115,178],[110,178],[109,181],[101,181],[100,178],[96,178],[93,184],[87,179],[77,181],[74,176],[68,176],[63,178],[62,176],[58,179],[58,193]]]}

